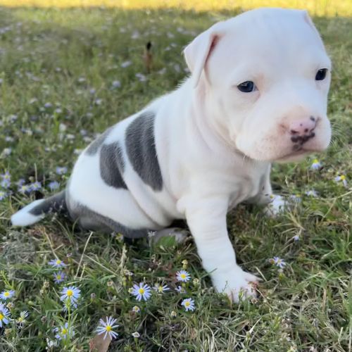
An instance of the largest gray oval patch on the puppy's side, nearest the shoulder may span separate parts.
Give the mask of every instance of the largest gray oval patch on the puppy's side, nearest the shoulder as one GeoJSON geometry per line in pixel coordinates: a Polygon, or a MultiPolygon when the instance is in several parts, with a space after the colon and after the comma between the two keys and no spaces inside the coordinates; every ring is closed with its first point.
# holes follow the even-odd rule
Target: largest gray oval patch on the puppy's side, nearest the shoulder
{"type": "Polygon", "coordinates": [[[135,118],[127,127],[125,139],[127,156],[135,172],[154,191],[163,189],[154,138],[155,115],[146,112],[135,118]]]}

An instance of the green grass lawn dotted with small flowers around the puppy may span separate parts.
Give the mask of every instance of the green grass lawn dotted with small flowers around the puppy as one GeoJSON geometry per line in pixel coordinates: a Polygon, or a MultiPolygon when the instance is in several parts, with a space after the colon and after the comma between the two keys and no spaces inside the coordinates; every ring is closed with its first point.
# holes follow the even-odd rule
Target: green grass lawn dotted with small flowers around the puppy
{"type": "Polygon", "coordinates": [[[11,173],[12,194],[0,201],[0,291],[15,290],[13,318],[29,312],[23,329],[14,322],[0,329],[1,352],[45,349],[54,327],[68,319],[59,299],[67,284],[81,289],[78,307],[70,312],[75,336],[53,351],[87,351],[106,315],[120,325],[111,351],[351,351],[351,190],[334,182],[343,173],[350,187],[352,178],[351,19],[316,19],[334,63],[329,94],[334,136],[319,156],[322,170],[310,170],[313,156],[298,165],[275,165],[277,191],[303,194],[302,202],[275,220],[246,206],[228,217],[242,267],[263,278],[257,301],[230,305],[215,294],[191,239],[149,247],[144,240],[127,245],[118,236],[82,232],[57,217],[25,229],[9,224],[15,210],[51,193],[49,182],[64,187],[75,153],[97,132],[179,84],[185,75],[182,47],[234,14],[1,9],[0,172],[11,173]],[[146,75],[142,52],[148,40],[154,67],[146,75]],[[121,67],[126,61],[131,64],[121,67]],[[57,166],[67,166],[68,173],[57,175],[57,166]],[[44,188],[21,194],[15,185],[20,178],[38,180],[44,188]],[[311,189],[318,198],[304,195],[311,189]],[[287,262],[284,270],[270,263],[274,256],[287,262]],[[63,284],[53,282],[48,261],[54,258],[68,264],[63,284]],[[178,294],[175,272],[183,260],[192,280],[187,294],[178,294]],[[143,280],[172,289],[138,303],[128,288],[143,280]],[[189,297],[196,304],[193,313],[180,305],[189,297]],[[132,313],[136,304],[139,314],[132,313]]]}

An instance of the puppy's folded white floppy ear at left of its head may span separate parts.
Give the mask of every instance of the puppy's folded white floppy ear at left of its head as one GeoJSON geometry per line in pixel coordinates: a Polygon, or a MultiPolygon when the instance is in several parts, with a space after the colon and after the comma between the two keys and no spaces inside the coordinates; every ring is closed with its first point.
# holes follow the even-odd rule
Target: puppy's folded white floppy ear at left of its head
{"type": "Polygon", "coordinates": [[[184,59],[191,71],[194,88],[199,82],[203,68],[206,66],[206,61],[222,35],[221,27],[221,22],[215,23],[215,25],[206,30],[206,32],[199,34],[184,48],[184,59]]]}

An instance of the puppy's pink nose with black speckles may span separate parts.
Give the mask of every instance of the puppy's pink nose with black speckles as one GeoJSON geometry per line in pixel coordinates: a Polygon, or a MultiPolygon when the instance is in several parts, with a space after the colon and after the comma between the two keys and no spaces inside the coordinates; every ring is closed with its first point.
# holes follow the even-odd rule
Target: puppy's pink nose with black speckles
{"type": "Polygon", "coordinates": [[[292,121],[289,125],[289,133],[291,141],[294,143],[294,151],[301,149],[309,139],[315,137],[315,127],[317,125],[316,118],[310,118],[292,121]]]}

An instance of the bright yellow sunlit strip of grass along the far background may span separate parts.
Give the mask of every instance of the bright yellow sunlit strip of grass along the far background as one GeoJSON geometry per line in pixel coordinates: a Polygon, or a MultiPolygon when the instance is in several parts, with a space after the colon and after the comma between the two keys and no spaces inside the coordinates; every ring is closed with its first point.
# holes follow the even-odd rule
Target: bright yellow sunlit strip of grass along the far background
{"type": "Polygon", "coordinates": [[[250,9],[262,6],[306,8],[313,15],[352,15],[351,0],[0,0],[0,6],[94,7],[125,9],[183,8],[196,11],[220,11],[234,8],[250,9]]]}

